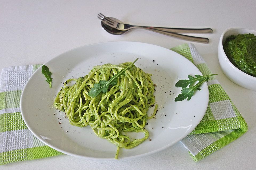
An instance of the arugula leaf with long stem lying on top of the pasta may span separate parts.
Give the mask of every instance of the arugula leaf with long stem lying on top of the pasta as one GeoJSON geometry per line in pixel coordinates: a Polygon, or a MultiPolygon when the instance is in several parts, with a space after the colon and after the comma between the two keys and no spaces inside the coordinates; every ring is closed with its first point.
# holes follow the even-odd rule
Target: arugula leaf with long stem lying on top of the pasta
{"type": "Polygon", "coordinates": [[[116,85],[117,84],[117,78],[120,75],[125,74],[125,71],[132,66],[139,58],[137,58],[133,63],[131,63],[129,66],[127,66],[125,69],[122,69],[117,74],[115,74],[113,77],[111,77],[109,80],[99,80],[99,83],[93,84],[93,88],[89,91],[88,95],[91,97],[96,97],[100,92],[106,93],[109,86],[116,85]]]}

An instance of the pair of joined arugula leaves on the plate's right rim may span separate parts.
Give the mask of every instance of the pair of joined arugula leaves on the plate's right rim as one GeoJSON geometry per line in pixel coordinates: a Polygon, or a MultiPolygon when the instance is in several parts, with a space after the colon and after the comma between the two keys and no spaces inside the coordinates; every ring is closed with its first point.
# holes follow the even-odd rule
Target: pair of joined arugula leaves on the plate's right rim
{"type": "Polygon", "coordinates": [[[190,75],[187,75],[189,80],[179,80],[175,86],[183,88],[181,90],[181,94],[179,94],[174,101],[182,101],[182,100],[190,100],[191,97],[194,95],[195,90],[201,90],[199,87],[203,84],[203,82],[208,81],[209,78],[213,75],[217,74],[210,74],[210,75],[195,75],[195,77],[192,77],[190,75]],[[198,81],[197,84],[193,86],[193,84],[198,81]],[[187,87],[189,86],[189,87],[187,87]],[[187,87],[187,88],[186,88],[187,87]]]}

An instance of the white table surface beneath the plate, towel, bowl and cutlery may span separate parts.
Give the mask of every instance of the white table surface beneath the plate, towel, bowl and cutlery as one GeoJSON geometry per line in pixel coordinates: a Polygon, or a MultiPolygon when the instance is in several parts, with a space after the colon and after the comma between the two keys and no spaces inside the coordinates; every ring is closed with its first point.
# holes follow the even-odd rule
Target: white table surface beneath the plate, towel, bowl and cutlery
{"type": "Polygon", "coordinates": [[[165,48],[188,43],[142,29],[111,35],[101,28],[98,12],[131,24],[212,28],[213,34],[205,35],[209,44],[194,44],[248,124],[241,138],[197,163],[178,142],[137,159],[95,161],[61,155],[0,169],[255,169],[256,92],[227,79],[218,62],[221,33],[234,27],[255,30],[255,8],[256,1],[0,1],[0,70],[45,63],[67,50],[98,42],[138,41],[165,48]]]}

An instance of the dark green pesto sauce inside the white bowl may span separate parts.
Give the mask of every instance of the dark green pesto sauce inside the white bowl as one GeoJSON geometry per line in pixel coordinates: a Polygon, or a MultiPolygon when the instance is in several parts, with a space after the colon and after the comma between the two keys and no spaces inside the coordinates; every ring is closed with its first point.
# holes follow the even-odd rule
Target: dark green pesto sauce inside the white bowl
{"type": "Polygon", "coordinates": [[[254,34],[231,35],[223,44],[223,49],[234,66],[256,77],[256,36],[254,34]]]}

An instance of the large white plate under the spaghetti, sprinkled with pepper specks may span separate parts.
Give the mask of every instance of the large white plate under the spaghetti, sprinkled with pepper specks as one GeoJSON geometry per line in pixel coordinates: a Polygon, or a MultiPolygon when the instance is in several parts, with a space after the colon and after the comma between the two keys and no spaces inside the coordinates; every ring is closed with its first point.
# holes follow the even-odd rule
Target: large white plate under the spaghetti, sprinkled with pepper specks
{"type": "MultiPolygon", "coordinates": [[[[152,154],[173,145],[188,135],[205,114],[209,92],[207,84],[189,100],[174,102],[181,88],[175,87],[180,79],[200,71],[185,57],[169,49],[138,42],[107,42],[82,46],[65,52],[45,63],[53,73],[50,89],[41,73],[41,67],[28,80],[21,96],[22,117],[31,132],[46,145],[68,155],[114,159],[117,147],[97,137],[89,126],[71,126],[64,112],[56,111],[53,101],[69,78],[88,74],[93,66],[105,63],[135,63],[146,73],[153,74],[157,84],[154,93],[159,105],[155,119],[148,120],[149,139],[132,149],[120,149],[119,159],[152,154]],[[154,61],[153,61],[154,60],[154,61]],[[54,114],[55,113],[55,114],[54,114]],[[61,122],[61,124],[59,124],[61,122]],[[67,132],[68,131],[68,132],[67,132]]],[[[152,109],[148,114],[152,113],[152,109]],[[151,111],[151,112],[150,112],[151,111]]],[[[131,134],[134,138],[140,133],[131,134]]]]}

